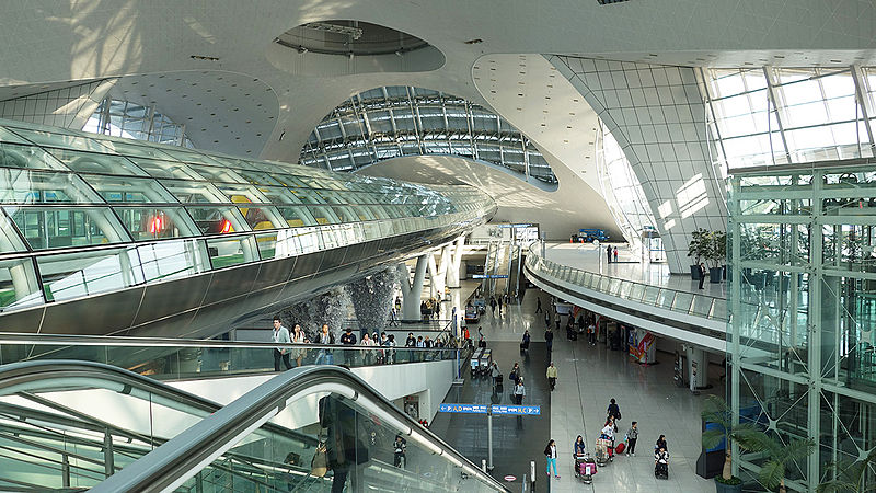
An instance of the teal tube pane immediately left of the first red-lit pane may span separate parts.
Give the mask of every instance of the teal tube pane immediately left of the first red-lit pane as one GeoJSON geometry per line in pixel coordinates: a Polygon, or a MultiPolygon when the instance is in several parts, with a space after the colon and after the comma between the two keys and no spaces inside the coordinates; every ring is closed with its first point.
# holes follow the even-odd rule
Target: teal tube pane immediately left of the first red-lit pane
{"type": "Polygon", "coordinates": [[[131,241],[107,207],[5,207],[34,250],[131,241]]]}

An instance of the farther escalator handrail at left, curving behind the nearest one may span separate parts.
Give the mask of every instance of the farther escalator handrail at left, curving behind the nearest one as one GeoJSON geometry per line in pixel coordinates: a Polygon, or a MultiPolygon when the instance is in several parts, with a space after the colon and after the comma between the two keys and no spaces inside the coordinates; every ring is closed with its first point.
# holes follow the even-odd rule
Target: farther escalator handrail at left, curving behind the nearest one
{"type": "MultiPolygon", "coordinates": [[[[103,363],[44,359],[0,365],[0,395],[22,391],[74,390],[82,388],[85,381],[90,388],[122,392],[137,399],[142,395],[135,390],[147,392],[150,395],[149,400],[155,404],[198,417],[212,414],[222,408],[209,399],[103,363]]],[[[290,433],[283,426],[268,423],[265,429],[299,442],[315,444],[314,439],[299,433],[290,433]]]]}

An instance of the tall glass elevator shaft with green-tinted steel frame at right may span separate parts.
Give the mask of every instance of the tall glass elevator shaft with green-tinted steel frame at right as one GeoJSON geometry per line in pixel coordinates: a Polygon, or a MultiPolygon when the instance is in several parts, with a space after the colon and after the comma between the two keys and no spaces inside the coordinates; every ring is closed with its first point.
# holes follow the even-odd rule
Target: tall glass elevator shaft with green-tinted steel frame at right
{"type": "MultiPolygon", "coordinates": [[[[787,467],[796,491],[876,447],[874,170],[865,158],[730,176],[731,406],[783,443],[818,444],[787,467]]],[[[735,455],[744,477],[765,460],[735,455]]]]}

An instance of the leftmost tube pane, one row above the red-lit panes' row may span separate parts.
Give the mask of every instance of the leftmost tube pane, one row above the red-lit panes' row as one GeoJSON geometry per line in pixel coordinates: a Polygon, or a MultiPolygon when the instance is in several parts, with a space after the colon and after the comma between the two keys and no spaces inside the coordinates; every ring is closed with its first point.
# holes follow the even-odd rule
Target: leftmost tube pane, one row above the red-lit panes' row
{"type": "Polygon", "coordinates": [[[103,200],[72,173],[0,168],[0,203],[102,204],[103,200]]]}

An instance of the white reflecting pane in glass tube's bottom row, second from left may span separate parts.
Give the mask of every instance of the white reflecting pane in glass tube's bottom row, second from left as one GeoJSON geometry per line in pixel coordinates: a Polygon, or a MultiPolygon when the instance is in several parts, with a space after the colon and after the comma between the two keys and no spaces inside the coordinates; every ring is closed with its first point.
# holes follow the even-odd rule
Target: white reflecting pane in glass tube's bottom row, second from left
{"type": "Polygon", "coordinates": [[[41,256],[37,264],[48,301],[80,298],[143,282],[140,260],[132,246],[41,256]]]}

